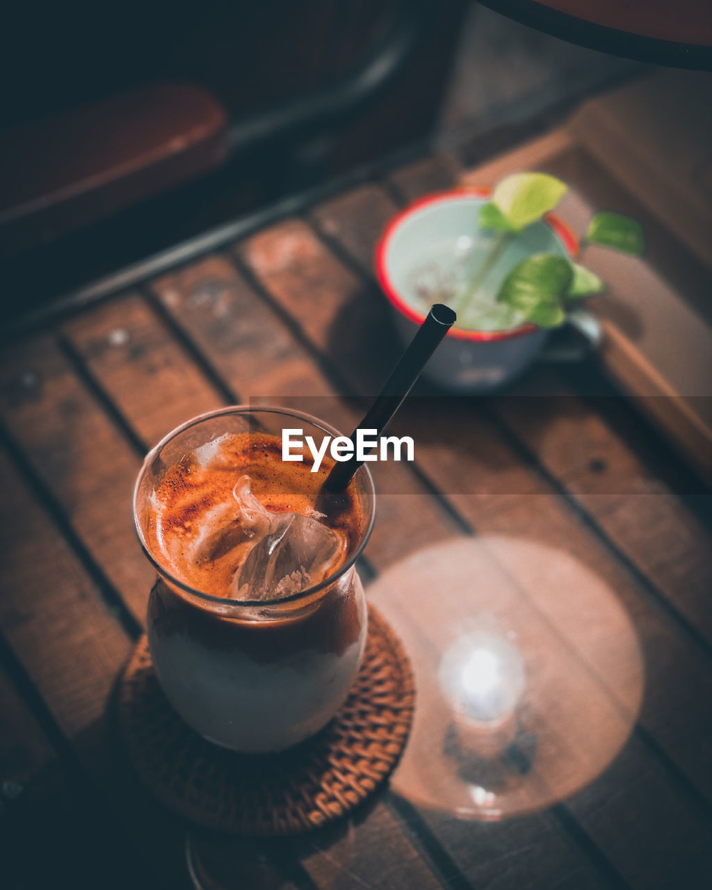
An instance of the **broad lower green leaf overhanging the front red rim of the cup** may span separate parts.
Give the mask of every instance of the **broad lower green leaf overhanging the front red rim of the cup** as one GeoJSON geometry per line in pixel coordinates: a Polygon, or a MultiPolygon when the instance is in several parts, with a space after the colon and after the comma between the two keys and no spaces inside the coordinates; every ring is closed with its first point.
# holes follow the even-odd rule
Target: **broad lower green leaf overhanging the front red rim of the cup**
{"type": "Polygon", "coordinates": [[[541,328],[555,328],[565,318],[563,298],[572,279],[573,270],[564,257],[532,254],[509,272],[497,300],[541,328]]]}

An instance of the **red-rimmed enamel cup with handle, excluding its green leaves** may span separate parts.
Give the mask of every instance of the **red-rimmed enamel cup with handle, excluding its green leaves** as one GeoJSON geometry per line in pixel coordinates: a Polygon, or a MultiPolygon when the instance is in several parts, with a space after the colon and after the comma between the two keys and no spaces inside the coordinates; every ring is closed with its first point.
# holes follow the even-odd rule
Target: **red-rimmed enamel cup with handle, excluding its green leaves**
{"type": "MultiPolygon", "coordinates": [[[[480,259],[489,252],[491,231],[480,228],[478,217],[489,190],[451,190],[418,200],[398,214],[387,226],[376,247],[376,275],[392,305],[396,328],[408,344],[425,314],[419,289],[425,280],[432,282],[432,292],[447,286],[463,263],[474,273],[480,259]]],[[[569,229],[554,216],[527,227],[512,239],[492,264],[482,282],[484,289],[495,292],[507,273],[531,254],[574,255],[578,244],[569,229]]],[[[437,301],[433,301],[437,302],[437,301]]],[[[440,300],[439,302],[443,302],[440,300]]],[[[583,308],[572,313],[570,324],[595,345],[600,327],[583,308]]],[[[548,331],[536,325],[522,324],[506,330],[469,330],[452,328],[433,358],[424,376],[433,383],[455,392],[479,393],[497,389],[522,373],[545,349],[548,331]]],[[[550,359],[577,359],[586,348],[567,348],[550,354],[550,359]]]]}

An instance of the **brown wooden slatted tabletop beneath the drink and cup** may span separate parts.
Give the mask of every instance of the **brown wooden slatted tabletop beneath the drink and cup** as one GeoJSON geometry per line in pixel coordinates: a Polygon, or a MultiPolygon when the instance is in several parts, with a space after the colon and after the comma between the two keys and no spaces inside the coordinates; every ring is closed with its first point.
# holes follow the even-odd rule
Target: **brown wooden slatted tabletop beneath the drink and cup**
{"type": "MultiPolygon", "coordinates": [[[[185,826],[127,772],[110,707],[152,579],[130,522],[142,455],[186,418],[256,397],[312,410],[329,397],[327,419],[350,428],[358,406],[335,397],[376,392],[398,352],[376,238],[458,175],[453,158],[427,158],[4,347],[3,886],[190,886],[185,826]]],[[[231,886],[712,886],[709,496],[625,402],[584,395],[592,379],[539,368],[466,414],[406,405],[417,465],[387,479],[376,465],[363,570],[466,535],[575,556],[616,591],[643,649],[626,747],[574,797],[513,821],[457,821],[386,789],[346,825],[236,842],[231,886]],[[537,392],[549,398],[525,398],[537,392]]],[[[513,572],[526,593],[535,582],[513,572]]]]}

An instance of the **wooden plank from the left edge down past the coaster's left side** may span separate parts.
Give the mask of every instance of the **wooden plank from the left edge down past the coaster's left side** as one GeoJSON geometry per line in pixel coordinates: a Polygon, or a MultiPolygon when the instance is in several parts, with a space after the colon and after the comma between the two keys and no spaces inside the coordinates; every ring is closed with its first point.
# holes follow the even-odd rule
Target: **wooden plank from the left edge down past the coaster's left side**
{"type": "MultiPolygon", "coordinates": [[[[0,627],[54,721],[90,774],[134,874],[155,886],[181,886],[182,835],[117,765],[109,699],[131,641],[85,570],[0,451],[0,627]]],[[[101,822],[100,822],[101,821],[101,822]]]]}

